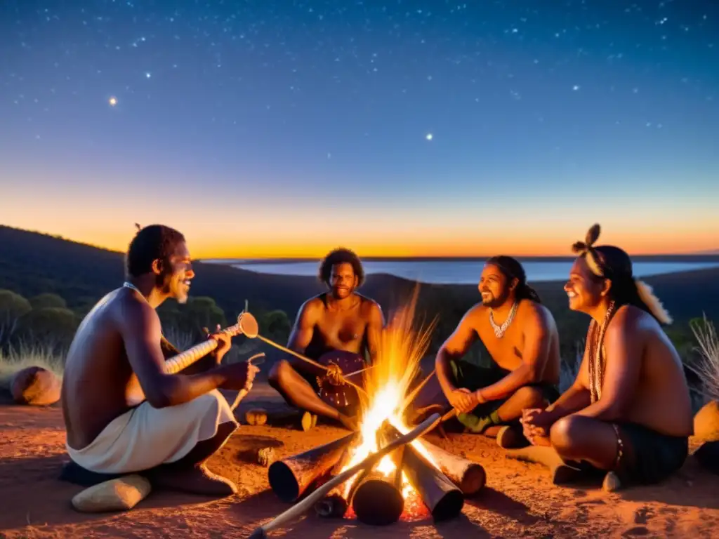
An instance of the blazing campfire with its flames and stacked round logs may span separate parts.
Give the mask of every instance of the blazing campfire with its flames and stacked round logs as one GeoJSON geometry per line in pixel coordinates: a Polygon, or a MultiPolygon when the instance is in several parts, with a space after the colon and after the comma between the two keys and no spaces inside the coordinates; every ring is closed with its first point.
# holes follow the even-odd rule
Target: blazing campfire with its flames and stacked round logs
{"type": "MultiPolygon", "coordinates": [[[[270,487],[280,499],[296,502],[410,432],[404,413],[416,395],[413,382],[434,328],[433,323],[413,330],[415,305],[416,296],[393,316],[383,331],[377,362],[364,373],[367,394],[360,394],[359,432],[270,466],[270,487]]],[[[322,517],[357,518],[372,525],[430,515],[446,520],[459,515],[464,497],[484,484],[480,464],[416,438],[334,487],[314,508],[322,517]]]]}

